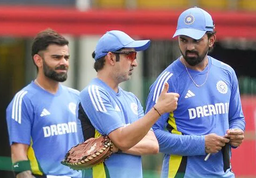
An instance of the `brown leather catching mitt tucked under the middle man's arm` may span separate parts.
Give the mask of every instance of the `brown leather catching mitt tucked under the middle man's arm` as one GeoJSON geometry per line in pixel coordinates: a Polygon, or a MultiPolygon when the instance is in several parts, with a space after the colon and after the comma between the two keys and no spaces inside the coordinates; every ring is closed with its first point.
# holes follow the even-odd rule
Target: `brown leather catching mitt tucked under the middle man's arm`
{"type": "Polygon", "coordinates": [[[110,157],[113,145],[108,136],[73,146],[61,163],[75,170],[89,169],[110,157]]]}

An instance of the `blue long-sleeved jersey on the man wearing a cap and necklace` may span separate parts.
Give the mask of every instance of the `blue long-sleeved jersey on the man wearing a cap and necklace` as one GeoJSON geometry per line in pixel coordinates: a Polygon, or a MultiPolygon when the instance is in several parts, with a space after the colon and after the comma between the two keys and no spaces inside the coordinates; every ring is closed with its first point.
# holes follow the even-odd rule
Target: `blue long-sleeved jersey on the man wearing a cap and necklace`
{"type": "Polygon", "coordinates": [[[157,102],[164,82],[169,83],[169,92],[180,96],[177,110],[164,113],[153,126],[164,153],[162,178],[235,177],[231,168],[224,172],[222,151],[204,160],[204,135],[224,136],[229,128],[245,129],[234,69],[210,56],[208,61],[204,71],[187,68],[187,72],[177,59],[150,87],[146,112],[157,102]],[[197,87],[191,78],[198,85],[206,83],[197,87]]]}

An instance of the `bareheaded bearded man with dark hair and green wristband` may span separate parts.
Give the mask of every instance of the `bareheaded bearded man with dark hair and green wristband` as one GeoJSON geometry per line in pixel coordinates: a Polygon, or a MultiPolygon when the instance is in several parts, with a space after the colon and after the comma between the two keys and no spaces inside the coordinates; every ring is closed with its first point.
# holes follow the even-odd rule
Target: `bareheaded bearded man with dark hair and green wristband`
{"type": "Polygon", "coordinates": [[[62,86],[69,68],[69,42],[51,29],[36,35],[34,81],[21,89],[6,109],[13,171],[16,177],[81,177],[61,164],[81,142],[76,120],[79,91],[62,86]]]}

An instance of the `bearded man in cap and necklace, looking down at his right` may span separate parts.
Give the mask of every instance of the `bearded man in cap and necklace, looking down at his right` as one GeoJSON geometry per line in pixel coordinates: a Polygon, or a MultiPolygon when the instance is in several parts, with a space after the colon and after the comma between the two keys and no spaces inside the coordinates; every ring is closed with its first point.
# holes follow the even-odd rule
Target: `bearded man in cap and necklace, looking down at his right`
{"type": "Polygon", "coordinates": [[[193,7],[180,14],[174,37],[182,56],[150,87],[146,112],[157,102],[164,82],[169,92],[180,95],[177,110],[162,114],[153,126],[164,153],[163,178],[235,177],[231,147],[242,143],[245,120],[234,69],[207,55],[215,33],[206,11],[193,7]]]}

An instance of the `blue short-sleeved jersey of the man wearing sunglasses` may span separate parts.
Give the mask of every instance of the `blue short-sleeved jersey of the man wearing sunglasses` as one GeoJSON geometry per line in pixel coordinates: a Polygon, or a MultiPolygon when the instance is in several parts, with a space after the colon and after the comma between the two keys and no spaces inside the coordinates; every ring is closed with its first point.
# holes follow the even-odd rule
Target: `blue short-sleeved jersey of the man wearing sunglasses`
{"type": "MultiPolygon", "coordinates": [[[[109,135],[144,116],[139,99],[118,88],[118,93],[100,79],[93,79],[80,93],[82,109],[95,128],[94,137],[109,135]]],[[[91,134],[91,133],[88,133],[91,134]]],[[[85,132],[84,132],[84,136],[85,132]]],[[[113,153],[104,164],[83,172],[84,178],[142,178],[141,156],[113,153]]]]}

